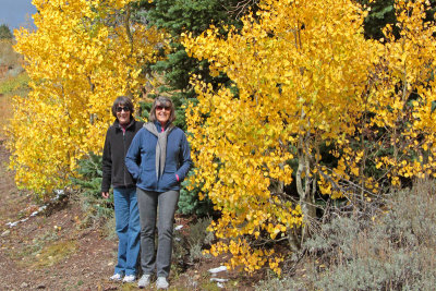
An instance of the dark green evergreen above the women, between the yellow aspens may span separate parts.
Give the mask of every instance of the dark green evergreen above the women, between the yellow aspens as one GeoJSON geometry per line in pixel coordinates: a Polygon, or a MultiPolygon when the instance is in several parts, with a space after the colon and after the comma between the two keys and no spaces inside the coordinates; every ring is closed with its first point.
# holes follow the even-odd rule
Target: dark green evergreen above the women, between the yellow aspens
{"type": "MultiPolygon", "coordinates": [[[[223,26],[240,25],[239,17],[250,7],[237,8],[239,2],[237,0],[157,0],[152,4],[148,1],[142,1],[136,9],[136,17],[146,14],[144,19],[149,24],[164,28],[171,35],[171,51],[167,54],[167,59],[157,62],[152,69],[164,74],[166,85],[159,90],[172,96],[179,116],[175,125],[183,130],[186,130],[186,126],[182,105],[195,99],[194,89],[190,85],[191,76],[193,74],[202,76],[215,86],[229,83],[229,78],[225,74],[211,76],[207,60],[190,58],[180,44],[180,36],[182,33],[192,33],[197,36],[210,24],[219,27],[220,33],[225,35],[223,26]]],[[[254,5],[254,1],[251,4],[254,5]]]]}

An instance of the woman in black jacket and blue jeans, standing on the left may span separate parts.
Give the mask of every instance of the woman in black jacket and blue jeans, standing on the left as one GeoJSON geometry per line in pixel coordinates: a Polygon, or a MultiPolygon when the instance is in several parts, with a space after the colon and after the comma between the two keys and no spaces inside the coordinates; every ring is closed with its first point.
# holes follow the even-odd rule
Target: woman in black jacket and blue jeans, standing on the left
{"type": "Polygon", "coordinates": [[[118,97],[112,105],[113,124],[106,133],[102,153],[101,196],[109,197],[113,186],[116,230],[119,239],[118,263],[111,280],[133,282],[136,280],[136,262],[140,254],[140,213],[136,186],[125,168],[124,158],[136,132],[144,125],[133,118],[133,104],[125,97],[118,97]],[[124,278],[123,278],[124,277],[124,278]]]}

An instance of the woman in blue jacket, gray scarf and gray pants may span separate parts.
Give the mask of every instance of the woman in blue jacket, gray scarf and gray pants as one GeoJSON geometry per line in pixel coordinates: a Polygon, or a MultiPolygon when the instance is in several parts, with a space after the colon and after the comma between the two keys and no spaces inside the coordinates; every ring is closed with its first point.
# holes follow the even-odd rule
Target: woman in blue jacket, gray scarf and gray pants
{"type": "Polygon", "coordinates": [[[191,153],[184,132],[173,125],[175,110],[171,99],[155,99],[149,122],[132,141],[125,165],[136,180],[141,218],[140,288],[150,283],[157,272],[157,289],[168,288],[171,266],[172,229],[180,183],[191,168],[191,153]],[[158,214],[158,218],[157,218],[158,214]],[[158,220],[158,247],[155,256],[155,228],[158,220]]]}

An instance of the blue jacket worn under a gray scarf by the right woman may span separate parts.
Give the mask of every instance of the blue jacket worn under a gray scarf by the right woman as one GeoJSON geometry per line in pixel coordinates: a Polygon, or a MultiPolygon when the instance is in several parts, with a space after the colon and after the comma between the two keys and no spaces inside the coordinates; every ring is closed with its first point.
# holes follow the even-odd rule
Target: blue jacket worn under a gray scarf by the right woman
{"type": "MultiPolygon", "coordinates": [[[[158,132],[159,122],[155,122],[158,132]]],[[[168,135],[167,157],[164,173],[156,178],[157,136],[145,128],[135,135],[125,156],[125,166],[136,180],[136,186],[145,191],[167,192],[180,190],[180,183],[186,177],[191,165],[191,150],[184,132],[174,128],[168,135]]]]}

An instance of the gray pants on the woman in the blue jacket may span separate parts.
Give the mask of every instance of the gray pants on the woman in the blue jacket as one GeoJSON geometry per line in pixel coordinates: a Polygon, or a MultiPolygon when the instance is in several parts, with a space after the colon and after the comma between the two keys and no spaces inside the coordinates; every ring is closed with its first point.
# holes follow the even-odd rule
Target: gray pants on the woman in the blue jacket
{"type": "Polygon", "coordinates": [[[136,189],[141,218],[141,267],[144,274],[168,277],[171,268],[172,229],[179,191],[164,193],[136,189]],[[155,229],[158,218],[158,245],[155,257],[155,229]]]}

